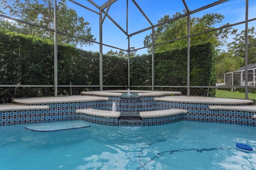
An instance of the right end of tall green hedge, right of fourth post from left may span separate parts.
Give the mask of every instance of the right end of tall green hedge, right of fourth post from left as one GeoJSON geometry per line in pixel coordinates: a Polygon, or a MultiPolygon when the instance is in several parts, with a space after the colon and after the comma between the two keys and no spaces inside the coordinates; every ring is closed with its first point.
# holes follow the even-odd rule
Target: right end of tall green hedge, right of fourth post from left
{"type": "MultiPolygon", "coordinates": [[[[160,86],[187,86],[187,48],[155,54],[155,81],[160,86]]],[[[190,47],[190,86],[215,86],[214,49],[211,43],[190,47]]],[[[186,94],[186,89],[181,90],[186,94]]],[[[215,89],[191,88],[190,95],[215,96],[215,89]]]]}

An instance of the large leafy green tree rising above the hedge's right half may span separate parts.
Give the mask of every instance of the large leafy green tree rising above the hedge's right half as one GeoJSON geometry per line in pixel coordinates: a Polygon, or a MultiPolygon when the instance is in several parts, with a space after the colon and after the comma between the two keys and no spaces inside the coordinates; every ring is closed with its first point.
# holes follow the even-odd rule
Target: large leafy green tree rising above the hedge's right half
{"type": "MultiPolygon", "coordinates": [[[[176,13],[173,15],[173,18],[182,15],[181,13],[176,13]]],[[[190,21],[190,34],[200,33],[203,31],[208,31],[214,29],[214,25],[216,23],[220,23],[223,20],[224,16],[221,14],[205,14],[200,17],[193,17],[190,21]]],[[[163,18],[158,20],[158,23],[163,21],[170,20],[171,17],[169,15],[165,15],[163,18]]],[[[227,23],[228,24],[228,23],[227,23]]],[[[172,39],[178,39],[181,37],[185,37],[188,35],[187,33],[188,21],[187,17],[180,18],[178,20],[174,20],[172,22],[168,22],[164,25],[160,25],[155,30],[155,43],[163,43],[155,46],[156,53],[162,53],[164,51],[169,51],[175,48],[186,47],[187,39],[180,39],[178,41],[172,41],[169,43],[164,43],[166,41],[170,41],[172,39]]],[[[224,44],[224,41],[227,37],[227,33],[230,28],[220,29],[218,31],[212,31],[209,33],[204,33],[201,35],[197,35],[191,38],[190,44],[195,45],[198,43],[211,42],[214,47],[220,47],[224,44]]],[[[144,46],[148,46],[152,44],[152,34],[147,35],[144,39],[144,46]]],[[[151,48],[148,49],[148,53],[150,53],[151,48]]]]}

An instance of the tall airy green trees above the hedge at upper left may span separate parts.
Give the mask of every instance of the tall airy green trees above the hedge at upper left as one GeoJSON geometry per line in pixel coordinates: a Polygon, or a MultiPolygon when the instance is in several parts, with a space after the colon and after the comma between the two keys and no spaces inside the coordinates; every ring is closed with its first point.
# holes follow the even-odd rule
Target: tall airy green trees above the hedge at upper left
{"type": "MultiPolygon", "coordinates": [[[[2,0],[0,2],[0,13],[10,15],[19,20],[27,21],[36,25],[53,29],[54,12],[52,0],[2,0]]],[[[58,31],[76,35],[83,39],[73,38],[63,34],[58,34],[58,43],[67,43],[71,45],[91,45],[95,41],[94,35],[90,33],[90,23],[85,21],[83,17],[79,17],[74,9],[68,8],[66,0],[58,1],[57,5],[57,26],[58,31]]],[[[5,21],[8,22],[8,21],[5,21]]],[[[52,38],[53,32],[17,22],[17,28],[20,29],[18,33],[25,35],[36,35],[42,38],[52,38]]],[[[1,21],[2,25],[2,21],[1,21]]]]}

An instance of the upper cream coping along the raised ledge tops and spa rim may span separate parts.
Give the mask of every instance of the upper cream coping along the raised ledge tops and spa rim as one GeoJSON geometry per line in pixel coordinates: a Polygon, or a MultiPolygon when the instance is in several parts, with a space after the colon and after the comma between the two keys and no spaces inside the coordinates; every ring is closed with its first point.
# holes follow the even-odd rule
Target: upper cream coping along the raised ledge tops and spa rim
{"type": "MultiPolygon", "coordinates": [[[[122,96],[125,90],[109,90],[109,91],[88,91],[81,92],[82,95],[75,96],[50,96],[50,97],[36,97],[36,98],[19,98],[14,99],[13,103],[18,104],[52,104],[65,102],[93,102],[93,101],[108,101],[108,97],[102,96],[122,96]],[[95,96],[92,96],[95,95],[95,96]]],[[[231,99],[231,98],[215,98],[203,96],[172,96],[173,94],[180,94],[180,92],[172,91],[143,91],[131,90],[131,93],[137,93],[138,96],[164,96],[156,97],[155,101],[163,102],[182,102],[182,103],[200,103],[200,104],[254,104],[252,100],[231,99]],[[170,95],[170,96],[165,96],[170,95]]],[[[1,105],[0,105],[1,106],[1,105]]]]}

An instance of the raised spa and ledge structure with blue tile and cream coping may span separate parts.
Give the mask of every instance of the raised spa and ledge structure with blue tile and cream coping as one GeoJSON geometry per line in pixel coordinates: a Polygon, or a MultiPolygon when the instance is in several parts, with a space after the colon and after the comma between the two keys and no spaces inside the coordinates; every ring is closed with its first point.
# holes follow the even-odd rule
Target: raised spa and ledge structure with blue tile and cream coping
{"type": "Polygon", "coordinates": [[[181,120],[256,126],[252,100],[181,96],[180,92],[127,90],[79,96],[14,99],[1,105],[0,125],[84,120],[104,125],[162,125],[181,120]],[[114,108],[113,108],[114,106],[114,108]]]}

